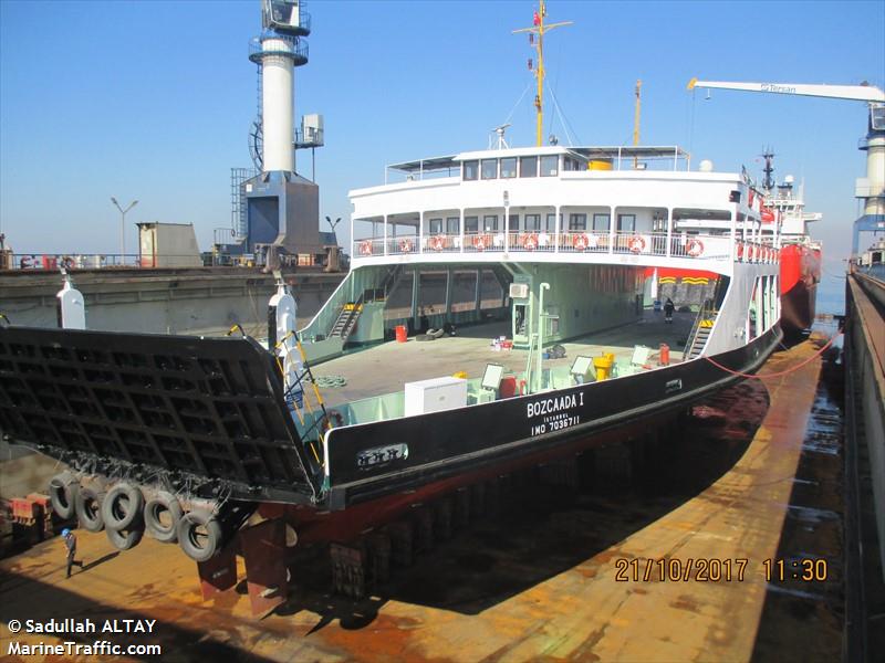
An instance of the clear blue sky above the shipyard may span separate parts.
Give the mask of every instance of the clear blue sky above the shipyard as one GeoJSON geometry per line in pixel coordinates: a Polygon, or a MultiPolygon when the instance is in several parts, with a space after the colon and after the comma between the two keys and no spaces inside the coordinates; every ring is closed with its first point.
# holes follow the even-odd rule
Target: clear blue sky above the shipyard
{"type": "MultiPolygon", "coordinates": [[[[384,166],[481,149],[530,82],[531,1],[315,0],[295,113],[325,116],[321,215],[350,214],[348,189],[384,166]]],[[[827,270],[841,272],[858,215],[862,103],[686,92],[693,76],[885,87],[885,2],[579,2],[551,0],[548,81],[575,143],[628,144],[643,80],[642,143],[679,144],[695,162],[804,178],[827,270]],[[694,114],[693,114],[694,107],[694,114]],[[694,122],[691,117],[694,116],[694,122]]],[[[0,0],[0,228],[17,252],[115,252],[127,221],[194,223],[201,248],[230,227],[230,168],[249,166],[258,0],[0,0]]],[[[511,144],[533,139],[531,94],[511,144]]],[[[549,98],[548,98],[549,102],[549,98]]],[[[551,109],[550,104],[548,109],[551,109]]],[[[549,114],[549,117],[552,114],[549,114]]],[[[565,143],[556,120],[553,131],[565,143]]],[[[310,173],[310,158],[299,154],[310,173]]],[[[342,223],[341,228],[344,228],[342,223]]],[[[135,246],[135,228],[127,246],[135,246]]]]}

